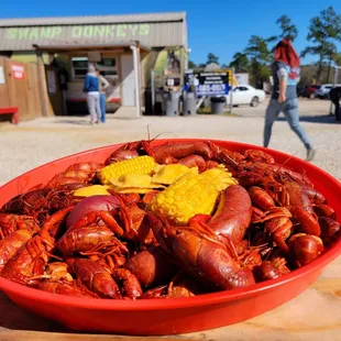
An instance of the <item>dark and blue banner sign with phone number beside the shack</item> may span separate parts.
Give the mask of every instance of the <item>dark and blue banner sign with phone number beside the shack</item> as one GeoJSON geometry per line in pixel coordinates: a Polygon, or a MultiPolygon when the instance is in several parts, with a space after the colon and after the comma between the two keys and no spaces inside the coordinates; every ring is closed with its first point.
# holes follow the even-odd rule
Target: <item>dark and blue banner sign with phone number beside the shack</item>
{"type": "Polygon", "coordinates": [[[185,91],[190,86],[195,86],[197,97],[226,96],[231,88],[230,79],[231,73],[229,70],[186,73],[185,91]]]}

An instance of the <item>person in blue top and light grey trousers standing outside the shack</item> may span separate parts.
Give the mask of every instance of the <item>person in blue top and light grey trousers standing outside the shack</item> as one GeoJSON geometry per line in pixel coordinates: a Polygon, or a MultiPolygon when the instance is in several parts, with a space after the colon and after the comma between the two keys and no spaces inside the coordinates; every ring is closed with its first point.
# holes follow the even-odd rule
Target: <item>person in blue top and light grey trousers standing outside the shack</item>
{"type": "Polygon", "coordinates": [[[87,92],[90,124],[99,123],[101,117],[99,102],[99,79],[94,64],[88,65],[88,73],[84,81],[84,91],[87,92]]]}

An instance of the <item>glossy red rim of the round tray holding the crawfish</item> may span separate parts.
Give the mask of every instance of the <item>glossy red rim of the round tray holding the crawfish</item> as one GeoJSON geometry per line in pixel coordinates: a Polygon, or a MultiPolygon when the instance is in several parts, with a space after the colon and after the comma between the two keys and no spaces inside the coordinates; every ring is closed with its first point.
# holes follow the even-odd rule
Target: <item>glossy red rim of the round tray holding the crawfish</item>
{"type": "MultiPolygon", "coordinates": [[[[242,148],[256,148],[262,151],[267,151],[272,155],[276,156],[283,156],[294,160],[296,163],[301,165],[308,165],[309,168],[319,172],[321,175],[324,175],[329,178],[332,183],[334,183],[336,187],[339,188],[341,193],[341,183],[334,178],[332,175],[327,173],[326,170],[317,167],[314,164],[308,164],[307,162],[302,161],[301,158],[298,158],[296,156],[292,156],[289,154],[265,148],[257,145],[241,143],[241,142],[234,142],[234,141],[228,141],[228,140],[215,140],[215,139],[160,139],[155,140],[155,144],[161,144],[169,141],[177,141],[177,142],[194,142],[194,141],[211,141],[217,143],[231,143],[233,145],[237,145],[242,148]]],[[[12,180],[8,182],[7,184],[2,185],[0,187],[0,191],[4,186],[8,186],[9,184],[16,182],[18,178],[23,177],[25,175],[29,175],[31,172],[36,172],[42,167],[45,167],[47,165],[65,161],[68,158],[74,158],[76,156],[79,156],[79,154],[92,154],[94,152],[98,152],[101,150],[106,150],[109,147],[120,147],[121,145],[125,144],[123,143],[116,143],[111,145],[100,146],[91,150],[86,150],[82,152],[74,153],[54,161],[51,161],[46,164],[43,164],[41,166],[37,166],[35,168],[32,168],[31,170],[25,172],[24,174],[13,178],[12,180]]],[[[316,261],[312,263],[293,271],[292,273],[284,275],[277,279],[271,279],[263,283],[254,284],[252,286],[249,286],[246,288],[239,288],[239,289],[232,289],[232,290],[222,290],[211,294],[204,294],[198,295],[195,297],[186,297],[186,298],[168,298],[168,299],[139,299],[134,301],[130,300],[111,300],[111,299],[96,299],[96,298],[78,298],[78,297],[70,297],[66,295],[61,294],[52,294],[42,292],[38,289],[34,289],[11,280],[8,280],[6,278],[0,277],[0,289],[3,290],[6,294],[8,294],[10,297],[22,297],[26,299],[33,299],[33,300],[40,300],[48,304],[54,304],[58,306],[64,307],[77,307],[77,308],[85,308],[85,309],[101,309],[101,310],[166,310],[166,309],[184,309],[184,308],[191,308],[191,307],[198,307],[198,306],[208,306],[213,304],[222,304],[231,300],[237,299],[246,299],[252,296],[255,296],[258,293],[265,292],[265,290],[274,290],[276,287],[289,284],[290,282],[297,280],[301,277],[305,277],[305,275],[314,272],[321,272],[323,267],[332,262],[336,257],[338,257],[341,254],[341,238],[329,249],[327,250],[321,256],[319,256],[316,261]]]]}

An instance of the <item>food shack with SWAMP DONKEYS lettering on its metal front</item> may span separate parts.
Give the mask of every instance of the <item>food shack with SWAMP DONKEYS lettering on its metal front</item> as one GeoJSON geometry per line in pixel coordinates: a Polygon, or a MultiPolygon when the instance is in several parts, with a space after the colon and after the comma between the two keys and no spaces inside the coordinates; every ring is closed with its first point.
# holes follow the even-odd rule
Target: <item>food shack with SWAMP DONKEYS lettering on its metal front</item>
{"type": "Polygon", "coordinates": [[[48,101],[55,114],[87,111],[82,84],[91,62],[111,85],[107,111],[120,108],[123,116],[140,117],[152,70],[183,78],[186,13],[3,19],[0,56],[44,65],[43,116],[48,101]]]}

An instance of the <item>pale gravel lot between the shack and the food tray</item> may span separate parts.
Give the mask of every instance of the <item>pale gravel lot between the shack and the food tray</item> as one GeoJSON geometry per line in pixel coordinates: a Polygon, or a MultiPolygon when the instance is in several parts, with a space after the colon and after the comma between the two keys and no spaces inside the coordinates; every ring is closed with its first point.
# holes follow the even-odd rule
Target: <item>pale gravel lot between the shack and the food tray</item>
{"type": "MultiPolygon", "coordinates": [[[[314,163],[341,179],[341,124],[326,116],[328,102],[304,105],[301,124],[317,148],[314,163]]],[[[265,108],[266,103],[262,106],[265,108]]],[[[0,186],[26,170],[73,153],[147,139],[147,127],[151,138],[162,134],[161,138],[223,139],[262,145],[264,119],[261,113],[264,111],[261,108],[255,117],[252,117],[254,109],[248,107],[237,108],[233,116],[143,117],[140,120],[109,116],[106,124],[94,127],[88,124],[87,118],[69,117],[36,119],[18,127],[3,123],[0,124],[0,186]]],[[[274,124],[270,146],[298,157],[306,156],[304,145],[283,118],[274,124]]]]}

